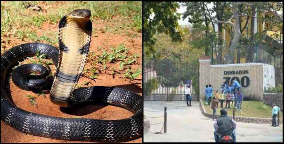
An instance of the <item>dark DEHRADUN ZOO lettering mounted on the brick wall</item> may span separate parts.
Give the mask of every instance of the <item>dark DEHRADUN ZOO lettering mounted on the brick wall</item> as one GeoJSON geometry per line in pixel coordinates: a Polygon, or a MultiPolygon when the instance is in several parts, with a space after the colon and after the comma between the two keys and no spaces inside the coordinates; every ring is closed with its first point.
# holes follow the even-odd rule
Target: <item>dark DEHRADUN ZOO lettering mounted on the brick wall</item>
{"type": "MultiPolygon", "coordinates": [[[[238,71],[224,71],[224,75],[243,75],[243,74],[249,74],[249,70],[238,70],[238,71]]],[[[233,83],[233,80],[236,79],[242,87],[248,87],[250,85],[250,78],[247,76],[243,76],[241,78],[239,77],[223,77],[226,79],[226,82],[233,83]],[[245,83],[246,82],[246,83],[245,83]]]]}

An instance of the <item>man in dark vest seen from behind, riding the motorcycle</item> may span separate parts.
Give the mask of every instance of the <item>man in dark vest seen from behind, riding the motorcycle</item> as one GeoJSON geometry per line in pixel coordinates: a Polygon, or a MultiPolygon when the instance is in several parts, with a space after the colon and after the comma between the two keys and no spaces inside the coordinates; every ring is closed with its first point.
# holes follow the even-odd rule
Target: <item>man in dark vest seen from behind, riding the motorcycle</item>
{"type": "Polygon", "coordinates": [[[217,118],[216,122],[214,123],[214,137],[215,141],[219,143],[219,135],[221,138],[223,136],[232,136],[233,141],[236,142],[236,122],[227,116],[227,111],[225,109],[221,109],[220,111],[221,116],[217,118]]]}

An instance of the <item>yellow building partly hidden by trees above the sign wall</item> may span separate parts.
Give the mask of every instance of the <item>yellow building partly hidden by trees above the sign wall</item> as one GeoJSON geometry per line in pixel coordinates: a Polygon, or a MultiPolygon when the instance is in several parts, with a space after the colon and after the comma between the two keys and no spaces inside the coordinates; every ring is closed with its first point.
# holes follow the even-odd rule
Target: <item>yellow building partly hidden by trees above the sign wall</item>
{"type": "MultiPolygon", "coordinates": [[[[266,16],[271,16],[273,15],[271,12],[265,12],[265,13],[256,13],[257,18],[254,18],[254,33],[257,32],[263,32],[264,28],[268,27],[269,23],[262,23],[260,20],[262,17],[266,17],[266,16]]],[[[246,17],[240,17],[242,18],[242,23],[241,23],[241,28],[244,27],[245,22],[246,22],[246,17]]],[[[224,24],[223,24],[224,25],[224,24]]],[[[227,24],[229,25],[229,24],[227,24]]],[[[247,37],[250,37],[251,32],[250,32],[250,28],[251,28],[251,17],[249,17],[248,23],[247,23],[247,28],[243,31],[243,35],[247,35],[247,37]]],[[[282,37],[283,34],[283,30],[279,30],[280,28],[276,28],[274,27],[273,30],[277,31],[277,33],[282,37]]],[[[274,31],[266,31],[265,35],[271,36],[273,35],[274,31]]],[[[223,49],[223,53],[222,53],[222,59],[224,60],[224,55],[225,53],[228,52],[228,48],[229,48],[229,43],[231,40],[230,34],[228,33],[228,31],[226,31],[225,29],[222,30],[222,39],[224,40],[224,49],[223,49]]],[[[235,61],[237,60],[237,52],[235,52],[235,61]]],[[[240,63],[245,63],[245,58],[240,59],[240,63]]]]}

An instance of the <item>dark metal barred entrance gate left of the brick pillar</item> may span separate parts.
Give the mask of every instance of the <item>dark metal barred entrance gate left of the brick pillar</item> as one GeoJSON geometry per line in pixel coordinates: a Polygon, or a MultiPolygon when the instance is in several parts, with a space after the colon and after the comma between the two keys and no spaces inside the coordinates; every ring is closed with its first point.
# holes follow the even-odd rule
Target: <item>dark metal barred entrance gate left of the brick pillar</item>
{"type": "Polygon", "coordinates": [[[143,66],[144,100],[186,100],[191,86],[192,100],[199,100],[198,66],[170,60],[151,61],[143,66]]]}

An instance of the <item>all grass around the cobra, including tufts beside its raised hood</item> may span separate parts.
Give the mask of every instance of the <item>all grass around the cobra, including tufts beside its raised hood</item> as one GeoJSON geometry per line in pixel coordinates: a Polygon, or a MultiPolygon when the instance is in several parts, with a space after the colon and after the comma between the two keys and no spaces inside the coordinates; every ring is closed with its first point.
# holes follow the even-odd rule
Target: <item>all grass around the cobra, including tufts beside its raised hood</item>
{"type": "MultiPolygon", "coordinates": [[[[93,37],[98,37],[98,31],[107,35],[118,33],[128,38],[136,38],[139,35],[135,32],[142,32],[142,2],[141,1],[1,1],[1,54],[7,51],[5,47],[11,39],[19,39],[24,42],[42,42],[51,45],[58,44],[58,32],[43,32],[41,36],[37,32],[42,30],[44,23],[58,25],[59,20],[67,13],[75,9],[90,9],[93,24],[103,20],[103,28],[93,28],[93,37]],[[44,11],[27,10],[27,3],[38,4],[44,11]],[[58,6],[60,5],[60,6],[58,6]],[[134,31],[134,32],[133,32],[134,31]],[[2,44],[4,43],[4,44],[2,44]]],[[[91,67],[84,70],[84,76],[95,80],[98,70],[110,71],[110,75],[122,74],[124,78],[133,80],[139,76],[141,69],[132,69],[128,65],[136,64],[137,54],[130,55],[129,48],[124,43],[117,47],[110,47],[104,50],[105,43],[98,48],[101,54],[89,52],[88,61],[91,67]],[[120,66],[111,70],[107,64],[119,63],[120,66]],[[100,65],[98,67],[97,65],[100,65]]],[[[45,61],[39,55],[29,58],[32,63],[52,64],[52,61],[45,61]]]]}

